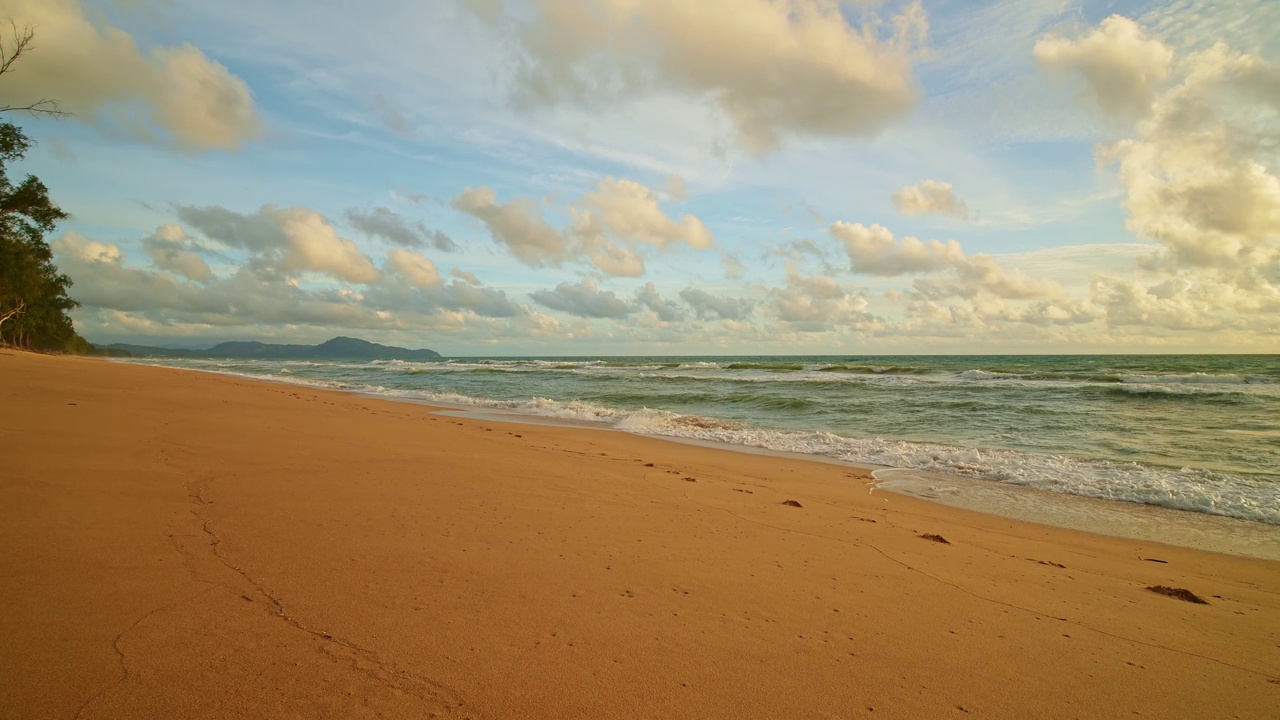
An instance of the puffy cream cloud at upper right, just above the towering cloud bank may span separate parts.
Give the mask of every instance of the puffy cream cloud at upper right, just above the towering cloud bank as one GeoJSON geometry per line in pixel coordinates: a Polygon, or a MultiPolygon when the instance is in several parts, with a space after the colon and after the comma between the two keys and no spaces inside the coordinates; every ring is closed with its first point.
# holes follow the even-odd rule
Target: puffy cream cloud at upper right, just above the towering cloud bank
{"type": "Polygon", "coordinates": [[[1098,108],[1117,117],[1146,114],[1174,60],[1169,46],[1120,15],[1076,40],[1042,37],[1034,54],[1046,68],[1080,73],[1098,108]]]}

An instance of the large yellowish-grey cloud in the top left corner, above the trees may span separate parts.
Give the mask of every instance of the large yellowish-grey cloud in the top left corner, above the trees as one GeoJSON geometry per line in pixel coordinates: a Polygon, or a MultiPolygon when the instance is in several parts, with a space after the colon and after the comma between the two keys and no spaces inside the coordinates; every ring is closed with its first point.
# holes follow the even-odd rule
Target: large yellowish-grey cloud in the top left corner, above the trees
{"type": "Polygon", "coordinates": [[[0,104],[50,97],[86,122],[192,151],[237,150],[261,133],[244,81],[191,45],[143,53],[79,0],[5,0],[5,10],[36,37],[5,73],[0,104]]]}

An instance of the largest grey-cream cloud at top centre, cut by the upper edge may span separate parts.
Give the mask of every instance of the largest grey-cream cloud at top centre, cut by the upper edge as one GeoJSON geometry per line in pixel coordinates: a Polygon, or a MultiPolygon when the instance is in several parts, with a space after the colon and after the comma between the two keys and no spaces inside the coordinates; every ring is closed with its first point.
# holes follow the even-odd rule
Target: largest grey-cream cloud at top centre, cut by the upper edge
{"type": "MultiPolygon", "coordinates": [[[[675,92],[714,102],[749,151],[785,136],[860,137],[916,102],[919,3],[892,33],[850,24],[837,0],[545,1],[515,28],[524,51],[517,101],[621,104],[675,92]]],[[[869,13],[869,12],[868,12],[869,13]]]]}

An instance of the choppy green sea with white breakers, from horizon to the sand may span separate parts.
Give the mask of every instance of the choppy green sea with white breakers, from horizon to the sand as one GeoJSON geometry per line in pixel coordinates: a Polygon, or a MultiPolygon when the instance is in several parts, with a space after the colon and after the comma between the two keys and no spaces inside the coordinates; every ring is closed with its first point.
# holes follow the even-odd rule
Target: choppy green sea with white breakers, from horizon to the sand
{"type": "Polygon", "coordinates": [[[1280,355],[127,361],[810,456],[876,469],[869,493],[1280,559],[1280,355]]]}

